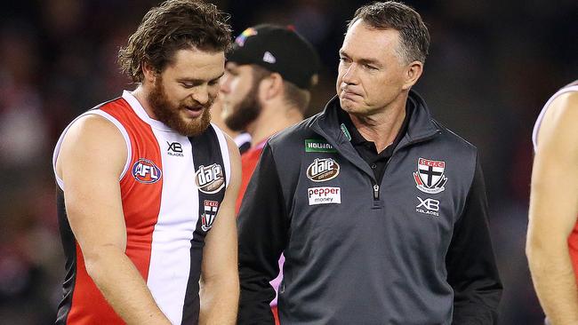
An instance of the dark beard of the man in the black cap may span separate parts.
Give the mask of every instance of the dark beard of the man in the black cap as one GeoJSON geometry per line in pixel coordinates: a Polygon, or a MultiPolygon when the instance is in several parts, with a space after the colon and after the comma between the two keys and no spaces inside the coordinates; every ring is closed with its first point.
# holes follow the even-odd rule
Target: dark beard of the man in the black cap
{"type": "Polygon", "coordinates": [[[230,107],[231,113],[223,119],[223,122],[232,131],[246,131],[247,126],[261,114],[261,102],[257,99],[257,88],[257,85],[253,84],[245,98],[235,107],[230,107]]]}

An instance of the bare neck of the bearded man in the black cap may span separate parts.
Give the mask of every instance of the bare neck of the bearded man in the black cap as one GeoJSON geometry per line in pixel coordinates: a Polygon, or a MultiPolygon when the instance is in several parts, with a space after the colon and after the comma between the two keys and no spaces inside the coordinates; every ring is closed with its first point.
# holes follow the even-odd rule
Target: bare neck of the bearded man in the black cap
{"type": "Polygon", "coordinates": [[[251,146],[260,144],[263,140],[302,120],[303,115],[297,108],[263,107],[261,115],[247,127],[247,132],[251,134],[251,146]]]}

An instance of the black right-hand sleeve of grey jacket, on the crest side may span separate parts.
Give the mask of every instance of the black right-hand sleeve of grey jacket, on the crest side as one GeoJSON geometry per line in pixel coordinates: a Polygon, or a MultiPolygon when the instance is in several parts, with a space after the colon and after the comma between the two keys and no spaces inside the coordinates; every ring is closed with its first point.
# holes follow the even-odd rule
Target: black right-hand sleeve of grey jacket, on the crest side
{"type": "Polygon", "coordinates": [[[496,324],[502,282],[487,223],[484,176],[476,166],[470,192],[446,256],[447,281],[454,288],[453,324],[496,324]]]}

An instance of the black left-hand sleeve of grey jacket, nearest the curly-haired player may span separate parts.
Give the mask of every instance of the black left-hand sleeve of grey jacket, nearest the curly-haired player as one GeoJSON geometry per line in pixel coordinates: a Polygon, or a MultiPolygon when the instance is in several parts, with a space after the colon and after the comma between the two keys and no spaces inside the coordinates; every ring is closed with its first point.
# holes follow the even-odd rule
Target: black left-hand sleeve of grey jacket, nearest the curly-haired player
{"type": "Polygon", "coordinates": [[[269,281],[279,273],[277,261],[285,249],[288,221],[285,201],[269,144],[245,191],[239,210],[238,324],[274,324],[269,303],[275,290],[269,281]]]}

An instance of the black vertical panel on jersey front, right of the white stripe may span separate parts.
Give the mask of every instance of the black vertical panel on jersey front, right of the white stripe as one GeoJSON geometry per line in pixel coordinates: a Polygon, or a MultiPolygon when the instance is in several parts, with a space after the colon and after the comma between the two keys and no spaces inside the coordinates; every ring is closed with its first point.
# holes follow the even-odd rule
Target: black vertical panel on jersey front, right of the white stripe
{"type": "MultiPolygon", "coordinates": [[[[195,171],[197,172],[200,166],[211,166],[213,163],[221,165],[223,184],[227,184],[229,175],[225,175],[225,165],[221,155],[221,147],[219,139],[213,125],[209,125],[207,130],[197,137],[189,137],[189,141],[193,150],[193,163],[195,164],[195,171]]],[[[225,150],[228,150],[225,148],[225,150]]],[[[197,175],[196,175],[197,176],[197,175]]],[[[203,218],[205,214],[205,201],[221,202],[225,197],[225,188],[222,186],[221,190],[214,194],[206,194],[198,191],[198,221],[195,227],[193,239],[190,241],[190,273],[189,282],[187,283],[187,292],[185,294],[185,307],[182,311],[182,324],[197,324],[198,313],[200,310],[200,301],[198,296],[198,281],[201,275],[201,263],[203,261],[203,248],[205,247],[205,235],[207,231],[203,230],[203,218]]],[[[211,207],[209,207],[211,208],[211,207]]],[[[211,213],[211,209],[208,209],[211,213]]],[[[216,213],[216,211],[214,211],[216,213]]]]}

